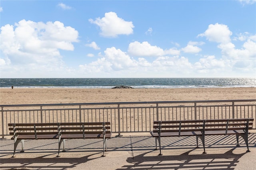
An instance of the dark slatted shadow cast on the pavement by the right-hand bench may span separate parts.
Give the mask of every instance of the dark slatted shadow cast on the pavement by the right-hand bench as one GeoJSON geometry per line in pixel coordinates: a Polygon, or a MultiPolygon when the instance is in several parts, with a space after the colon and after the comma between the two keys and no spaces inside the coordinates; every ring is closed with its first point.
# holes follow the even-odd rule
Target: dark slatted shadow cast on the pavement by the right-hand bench
{"type": "Polygon", "coordinates": [[[246,154],[233,154],[228,150],[222,154],[190,154],[195,149],[184,152],[180,155],[156,156],[152,151],[130,157],[126,161],[132,165],[122,166],[122,169],[136,170],[163,170],[163,169],[229,169],[232,170],[238,164],[239,159],[246,154]]]}

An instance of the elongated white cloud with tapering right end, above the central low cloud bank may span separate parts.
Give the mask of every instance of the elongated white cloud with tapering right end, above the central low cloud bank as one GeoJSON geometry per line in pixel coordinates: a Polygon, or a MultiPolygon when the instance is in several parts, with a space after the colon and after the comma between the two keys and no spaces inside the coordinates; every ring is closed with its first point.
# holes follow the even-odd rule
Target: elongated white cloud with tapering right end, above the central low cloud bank
{"type": "Polygon", "coordinates": [[[160,47],[152,46],[147,41],[142,43],[134,41],[129,44],[128,53],[134,56],[152,56],[158,57],[163,55],[179,55],[180,51],[176,49],[166,49],[163,50],[160,47]]]}

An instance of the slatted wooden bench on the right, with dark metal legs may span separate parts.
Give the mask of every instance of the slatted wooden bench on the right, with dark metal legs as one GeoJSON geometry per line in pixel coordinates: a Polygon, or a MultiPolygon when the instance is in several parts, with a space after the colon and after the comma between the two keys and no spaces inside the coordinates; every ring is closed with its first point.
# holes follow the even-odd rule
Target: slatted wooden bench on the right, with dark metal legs
{"type": "Polygon", "coordinates": [[[196,136],[196,147],[198,148],[198,138],[201,139],[205,151],[206,135],[236,135],[237,145],[238,138],[241,136],[248,147],[248,130],[252,129],[254,119],[211,119],[211,120],[184,120],[184,121],[154,121],[153,131],[150,132],[152,137],[157,140],[161,152],[161,137],[180,137],[196,136]]]}

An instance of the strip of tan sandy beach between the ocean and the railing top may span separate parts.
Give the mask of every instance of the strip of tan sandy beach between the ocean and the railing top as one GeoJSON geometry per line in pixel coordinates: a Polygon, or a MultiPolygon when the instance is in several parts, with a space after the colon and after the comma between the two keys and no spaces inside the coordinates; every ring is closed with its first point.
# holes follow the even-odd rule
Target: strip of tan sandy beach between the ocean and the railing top
{"type": "Polygon", "coordinates": [[[0,88],[1,105],[256,99],[256,88],[0,88]]]}

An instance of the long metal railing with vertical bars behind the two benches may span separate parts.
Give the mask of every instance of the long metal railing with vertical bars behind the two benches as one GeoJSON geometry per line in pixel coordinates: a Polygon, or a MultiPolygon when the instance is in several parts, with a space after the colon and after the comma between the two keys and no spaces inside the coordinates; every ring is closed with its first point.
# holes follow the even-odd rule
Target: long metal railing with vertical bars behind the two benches
{"type": "Polygon", "coordinates": [[[256,100],[0,105],[2,138],[8,123],[110,121],[113,133],[152,131],[153,121],[254,118],[256,100]]]}

